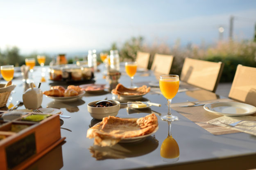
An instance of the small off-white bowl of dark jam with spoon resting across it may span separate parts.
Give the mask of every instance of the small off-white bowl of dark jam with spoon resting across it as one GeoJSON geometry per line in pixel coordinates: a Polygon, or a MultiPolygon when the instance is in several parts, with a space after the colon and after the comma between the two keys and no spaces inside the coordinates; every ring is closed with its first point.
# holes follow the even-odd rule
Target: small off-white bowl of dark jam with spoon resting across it
{"type": "MultiPolygon", "coordinates": [[[[113,103],[120,103],[119,101],[109,100],[113,103]]],[[[87,109],[88,112],[91,114],[91,116],[94,119],[102,120],[104,117],[107,116],[116,116],[118,114],[118,111],[120,109],[120,104],[109,106],[109,107],[92,107],[91,105],[94,105],[98,101],[93,101],[91,103],[88,103],[87,109]]]]}

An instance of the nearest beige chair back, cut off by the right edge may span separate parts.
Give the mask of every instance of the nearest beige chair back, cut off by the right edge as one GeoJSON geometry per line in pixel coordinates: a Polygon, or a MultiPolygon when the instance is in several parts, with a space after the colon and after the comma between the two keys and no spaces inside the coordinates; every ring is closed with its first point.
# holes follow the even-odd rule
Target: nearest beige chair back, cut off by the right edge
{"type": "Polygon", "coordinates": [[[229,98],[256,106],[256,68],[238,65],[229,98]]]}

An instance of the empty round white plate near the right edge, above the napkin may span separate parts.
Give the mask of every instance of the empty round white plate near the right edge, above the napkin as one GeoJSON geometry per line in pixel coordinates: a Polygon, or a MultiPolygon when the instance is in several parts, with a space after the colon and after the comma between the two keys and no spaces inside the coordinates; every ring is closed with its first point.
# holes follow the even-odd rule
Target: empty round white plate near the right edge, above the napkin
{"type": "Polygon", "coordinates": [[[256,107],[239,102],[214,102],[204,105],[204,109],[224,116],[242,116],[253,114],[256,107]]]}

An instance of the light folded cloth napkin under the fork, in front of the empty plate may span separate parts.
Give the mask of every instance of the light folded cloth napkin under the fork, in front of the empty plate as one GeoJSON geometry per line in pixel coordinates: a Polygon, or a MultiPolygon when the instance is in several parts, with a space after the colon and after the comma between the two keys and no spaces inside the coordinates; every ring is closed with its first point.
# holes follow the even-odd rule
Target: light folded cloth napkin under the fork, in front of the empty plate
{"type": "Polygon", "coordinates": [[[256,135],[256,116],[222,116],[222,117],[213,119],[211,121],[208,121],[207,123],[256,135]],[[225,124],[235,123],[240,120],[254,120],[254,121],[242,121],[234,127],[223,124],[223,123],[225,124]]]}

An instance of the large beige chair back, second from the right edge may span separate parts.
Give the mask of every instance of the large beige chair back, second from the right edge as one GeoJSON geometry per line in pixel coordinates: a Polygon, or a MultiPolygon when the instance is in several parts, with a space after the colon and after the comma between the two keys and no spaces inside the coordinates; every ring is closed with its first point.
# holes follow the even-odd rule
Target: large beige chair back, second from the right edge
{"type": "Polygon", "coordinates": [[[215,92],[223,71],[222,62],[185,58],[180,80],[190,85],[215,92]]]}

